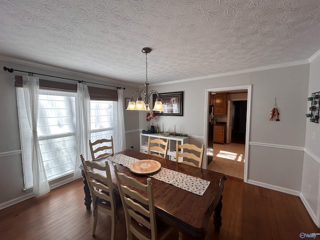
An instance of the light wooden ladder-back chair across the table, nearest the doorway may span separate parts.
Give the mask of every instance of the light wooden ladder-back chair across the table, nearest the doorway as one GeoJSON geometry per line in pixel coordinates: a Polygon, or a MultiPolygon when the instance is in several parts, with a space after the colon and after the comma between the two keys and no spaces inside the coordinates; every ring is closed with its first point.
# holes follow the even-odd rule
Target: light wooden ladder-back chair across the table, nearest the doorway
{"type": "Polygon", "coordinates": [[[182,157],[181,163],[201,167],[203,157],[204,145],[197,147],[196,145],[184,143],[179,145],[179,142],[175,143],[175,161],[178,161],[178,157],[182,157]],[[186,159],[187,158],[187,159],[186,159]]]}

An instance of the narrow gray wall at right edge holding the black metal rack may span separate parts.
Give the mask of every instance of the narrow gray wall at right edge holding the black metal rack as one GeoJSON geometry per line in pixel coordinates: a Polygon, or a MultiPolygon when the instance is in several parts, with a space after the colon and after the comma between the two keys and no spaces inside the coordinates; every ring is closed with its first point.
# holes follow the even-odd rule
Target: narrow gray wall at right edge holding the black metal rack
{"type": "MultiPolygon", "coordinates": [[[[320,91],[320,57],[310,63],[308,96],[320,91]]],[[[310,101],[305,107],[309,112],[310,101]]],[[[320,227],[320,123],[310,122],[306,118],[305,154],[303,160],[301,199],[312,219],[320,227]],[[314,133],[314,139],[312,134],[314,133]]]]}

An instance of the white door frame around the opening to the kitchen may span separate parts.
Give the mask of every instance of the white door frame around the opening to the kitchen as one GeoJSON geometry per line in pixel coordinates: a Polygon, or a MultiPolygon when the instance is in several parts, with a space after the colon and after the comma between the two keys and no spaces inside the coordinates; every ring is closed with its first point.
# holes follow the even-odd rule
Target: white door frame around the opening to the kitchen
{"type": "MultiPolygon", "coordinates": [[[[204,104],[204,142],[205,146],[208,143],[208,117],[207,110],[209,104],[209,92],[211,91],[232,91],[232,90],[247,90],[247,102],[246,102],[246,124],[245,124],[245,147],[244,147],[244,174],[243,181],[247,182],[248,180],[248,153],[249,153],[249,135],[250,135],[250,114],[251,114],[251,88],[252,85],[239,85],[239,86],[225,86],[225,87],[215,87],[205,89],[205,104],[204,104]]],[[[207,157],[203,159],[203,167],[207,168],[207,157]]]]}

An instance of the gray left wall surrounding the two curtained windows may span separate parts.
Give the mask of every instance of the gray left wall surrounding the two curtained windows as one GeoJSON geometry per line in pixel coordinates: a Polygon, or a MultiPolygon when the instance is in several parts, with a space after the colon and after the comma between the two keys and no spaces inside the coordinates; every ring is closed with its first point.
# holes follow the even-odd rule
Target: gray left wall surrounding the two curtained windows
{"type": "MultiPolygon", "coordinates": [[[[27,73],[14,71],[10,73],[3,70],[3,66],[8,68],[32,71],[42,74],[66,77],[77,80],[84,80],[89,82],[96,82],[114,86],[124,86],[123,91],[124,97],[130,97],[132,92],[137,90],[136,87],[123,85],[123,83],[115,81],[105,81],[103,78],[86,76],[84,74],[74,75],[70,74],[70,71],[60,72],[53,71],[50,69],[43,69],[39,67],[33,67],[29,65],[16,64],[0,60],[0,209],[15,203],[17,201],[26,199],[31,196],[31,191],[23,190],[23,173],[22,173],[22,161],[21,161],[21,148],[19,139],[19,125],[17,116],[17,104],[16,104],[16,92],[14,87],[14,75],[26,75],[27,73]],[[68,74],[66,73],[68,72],[68,74]],[[9,183],[9,184],[8,184],[9,183]]],[[[58,70],[56,68],[52,68],[58,70]]],[[[51,78],[46,76],[39,76],[42,79],[65,81],[75,83],[76,81],[64,80],[58,78],[51,78]]],[[[94,84],[89,84],[97,86],[94,84]]],[[[103,87],[103,86],[100,86],[103,87]]],[[[131,144],[135,144],[139,132],[139,114],[137,111],[124,111],[124,124],[126,131],[126,147],[128,148],[131,144]]]]}

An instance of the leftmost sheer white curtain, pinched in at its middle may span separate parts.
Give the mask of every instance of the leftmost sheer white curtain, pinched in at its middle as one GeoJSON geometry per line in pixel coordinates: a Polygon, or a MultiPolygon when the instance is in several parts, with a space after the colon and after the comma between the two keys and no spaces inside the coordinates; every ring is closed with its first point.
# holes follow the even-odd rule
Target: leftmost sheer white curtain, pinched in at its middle
{"type": "Polygon", "coordinates": [[[22,84],[27,118],[32,132],[31,165],[33,175],[33,196],[40,197],[48,193],[50,187],[43,166],[37,133],[39,78],[34,76],[22,76],[22,84]]]}

